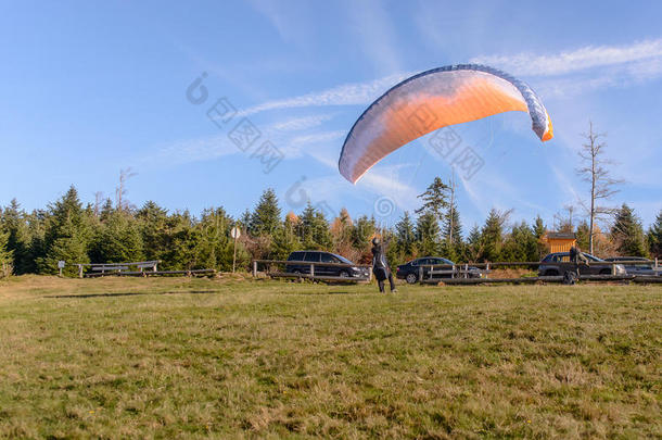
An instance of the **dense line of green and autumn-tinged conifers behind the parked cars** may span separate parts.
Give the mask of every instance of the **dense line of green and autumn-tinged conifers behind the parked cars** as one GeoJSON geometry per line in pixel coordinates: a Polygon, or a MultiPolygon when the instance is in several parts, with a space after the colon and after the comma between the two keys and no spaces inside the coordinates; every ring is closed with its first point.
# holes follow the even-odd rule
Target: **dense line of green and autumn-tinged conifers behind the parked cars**
{"type": "MultiPolygon", "coordinates": [[[[26,212],[16,200],[0,208],[0,263],[2,274],[55,274],[65,261],[66,275],[76,275],[76,263],[119,263],[161,260],[163,269],[232,268],[230,230],[242,235],[237,243],[238,267],[252,259],[284,260],[303,249],[342,254],[356,263],[369,263],[370,239],[391,239],[393,265],[417,256],[441,255],[456,262],[538,261],[548,250],[548,227],[537,216],[531,224],[510,223],[510,211],[493,209],[482,226],[464,230],[451,185],[435,178],[420,196],[421,206],[405,212],[392,227],[374,216],[352,218],[343,209],[335,218],[310,203],[296,214],[283,215],[276,192],[263,192],[253,210],[238,218],[224,208],[209,208],[194,216],[189,211],[168,212],[153,201],[141,208],[106,200],[84,205],[75,187],[46,209],[26,212]]],[[[575,232],[582,249],[594,240],[603,256],[662,256],[662,211],[648,231],[634,210],[615,210],[611,228],[591,235],[586,222],[572,216],[553,229],[575,232]]],[[[2,275],[0,274],[0,275],[2,275]]]]}

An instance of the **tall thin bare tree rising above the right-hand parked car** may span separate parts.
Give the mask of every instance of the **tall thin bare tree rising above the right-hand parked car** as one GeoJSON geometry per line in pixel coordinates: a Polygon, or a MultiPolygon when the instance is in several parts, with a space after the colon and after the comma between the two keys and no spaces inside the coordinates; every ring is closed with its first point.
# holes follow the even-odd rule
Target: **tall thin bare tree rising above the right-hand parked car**
{"type": "Polygon", "coordinates": [[[589,252],[593,253],[596,222],[615,212],[613,208],[606,206],[603,203],[619,192],[619,189],[614,187],[622,184],[623,180],[611,177],[611,173],[607,168],[608,165],[613,164],[613,162],[604,159],[607,143],[602,139],[607,135],[594,131],[593,122],[589,121],[588,133],[582,136],[586,139],[586,143],[583,143],[580,150],[582,167],[577,168],[576,172],[585,183],[590,185],[590,200],[582,202],[582,205],[589,218],[588,247],[590,248],[589,252]]]}

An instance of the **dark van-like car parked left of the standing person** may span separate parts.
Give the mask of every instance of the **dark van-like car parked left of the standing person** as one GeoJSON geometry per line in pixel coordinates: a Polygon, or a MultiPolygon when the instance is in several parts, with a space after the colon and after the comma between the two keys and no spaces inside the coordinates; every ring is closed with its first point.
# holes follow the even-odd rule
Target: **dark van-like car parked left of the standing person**
{"type": "Polygon", "coordinates": [[[343,278],[367,278],[370,276],[367,267],[358,267],[342,255],[323,251],[294,251],[288,256],[288,261],[306,262],[287,264],[285,272],[290,274],[310,274],[310,263],[336,263],[351,264],[352,266],[322,266],[315,265],[315,275],[333,276],[343,278]]]}

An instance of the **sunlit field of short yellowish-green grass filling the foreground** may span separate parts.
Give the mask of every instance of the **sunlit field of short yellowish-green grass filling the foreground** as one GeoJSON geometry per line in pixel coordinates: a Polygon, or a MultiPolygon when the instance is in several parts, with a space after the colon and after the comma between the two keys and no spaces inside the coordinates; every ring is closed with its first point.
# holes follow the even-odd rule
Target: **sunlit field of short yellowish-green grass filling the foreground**
{"type": "Polygon", "coordinates": [[[0,437],[661,438],[662,287],[0,280],[0,437]]]}

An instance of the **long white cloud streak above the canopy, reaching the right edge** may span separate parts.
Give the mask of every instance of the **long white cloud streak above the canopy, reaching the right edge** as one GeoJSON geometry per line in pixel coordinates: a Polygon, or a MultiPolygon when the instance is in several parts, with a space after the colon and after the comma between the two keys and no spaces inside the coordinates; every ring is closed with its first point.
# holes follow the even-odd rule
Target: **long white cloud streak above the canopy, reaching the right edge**
{"type": "Polygon", "coordinates": [[[587,46],[553,54],[476,56],[471,62],[498,66],[518,75],[550,76],[661,59],[662,39],[654,39],[627,46],[587,46]]]}

